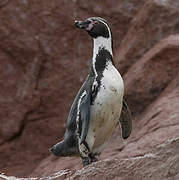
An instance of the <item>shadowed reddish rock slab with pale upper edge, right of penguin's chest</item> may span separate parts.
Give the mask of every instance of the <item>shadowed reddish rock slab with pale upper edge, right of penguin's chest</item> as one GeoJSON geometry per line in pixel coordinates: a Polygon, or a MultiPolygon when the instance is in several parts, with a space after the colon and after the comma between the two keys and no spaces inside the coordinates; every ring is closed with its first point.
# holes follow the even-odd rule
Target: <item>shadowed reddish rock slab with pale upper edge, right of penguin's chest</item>
{"type": "Polygon", "coordinates": [[[125,74],[125,96],[132,112],[141,113],[176,78],[179,35],[160,41],[125,74]]]}

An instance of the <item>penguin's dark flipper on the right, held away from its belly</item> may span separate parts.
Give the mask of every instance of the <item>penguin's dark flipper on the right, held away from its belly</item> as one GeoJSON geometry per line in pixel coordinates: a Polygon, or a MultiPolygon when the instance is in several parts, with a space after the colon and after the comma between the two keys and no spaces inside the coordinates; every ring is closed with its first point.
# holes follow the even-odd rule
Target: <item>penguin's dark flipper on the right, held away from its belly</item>
{"type": "Polygon", "coordinates": [[[122,111],[119,122],[121,124],[122,129],[122,138],[127,139],[132,131],[132,118],[131,111],[124,99],[122,103],[122,111]]]}

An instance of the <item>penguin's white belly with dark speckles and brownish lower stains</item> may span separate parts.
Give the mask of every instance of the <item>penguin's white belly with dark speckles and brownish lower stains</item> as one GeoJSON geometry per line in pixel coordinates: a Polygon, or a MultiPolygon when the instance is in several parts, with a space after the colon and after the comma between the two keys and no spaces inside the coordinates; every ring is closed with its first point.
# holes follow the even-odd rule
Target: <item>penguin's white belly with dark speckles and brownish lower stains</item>
{"type": "Polygon", "coordinates": [[[124,85],[117,69],[110,64],[103,72],[99,92],[91,105],[86,142],[91,153],[100,154],[119,121],[124,85]]]}

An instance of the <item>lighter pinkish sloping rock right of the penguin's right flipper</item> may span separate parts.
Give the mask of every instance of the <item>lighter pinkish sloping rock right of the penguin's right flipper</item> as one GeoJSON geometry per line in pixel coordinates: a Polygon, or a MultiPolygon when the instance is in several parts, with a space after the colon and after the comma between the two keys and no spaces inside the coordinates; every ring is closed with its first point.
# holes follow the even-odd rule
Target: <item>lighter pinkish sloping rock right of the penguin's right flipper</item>
{"type": "MultiPolygon", "coordinates": [[[[179,137],[179,74],[134,122],[132,136],[121,157],[145,154],[151,148],[179,137]]],[[[179,162],[178,162],[179,163],[179,162]]]]}

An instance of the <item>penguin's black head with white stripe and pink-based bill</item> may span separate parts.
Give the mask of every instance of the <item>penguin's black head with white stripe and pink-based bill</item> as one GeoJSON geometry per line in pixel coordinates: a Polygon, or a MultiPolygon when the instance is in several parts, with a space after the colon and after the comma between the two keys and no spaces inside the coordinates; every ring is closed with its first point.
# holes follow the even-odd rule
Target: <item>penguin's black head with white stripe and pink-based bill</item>
{"type": "Polygon", "coordinates": [[[107,21],[100,17],[88,18],[85,21],[75,21],[75,26],[86,30],[92,38],[111,37],[111,30],[107,21]]]}

